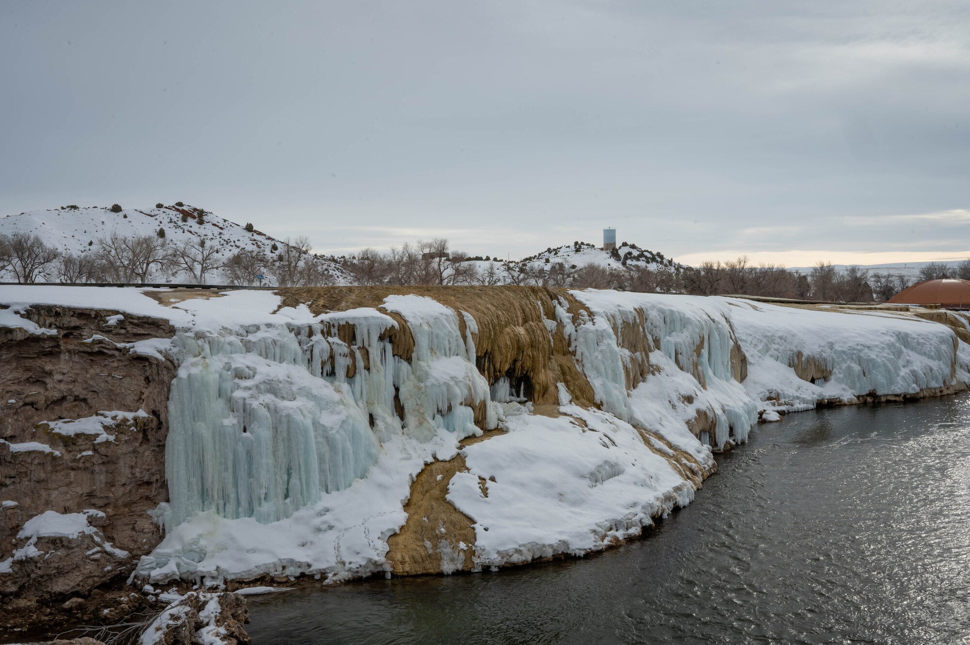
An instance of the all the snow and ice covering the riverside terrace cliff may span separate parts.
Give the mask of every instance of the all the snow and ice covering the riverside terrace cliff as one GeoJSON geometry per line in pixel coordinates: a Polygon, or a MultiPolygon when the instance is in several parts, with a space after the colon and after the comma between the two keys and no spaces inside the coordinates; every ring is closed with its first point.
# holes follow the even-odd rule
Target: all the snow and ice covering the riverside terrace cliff
{"type": "MultiPolygon", "coordinates": [[[[594,551],[689,504],[712,449],[744,443],[759,415],[970,383],[970,347],[905,313],[583,291],[540,306],[537,323],[550,345],[567,344],[597,407],[559,384],[559,405],[536,414],[497,400],[478,371],[483,321],[428,297],[314,315],[281,308],[274,292],[163,306],[145,291],[0,286],[10,306],[0,324],[49,333],[20,314],[58,303],[178,330],[153,346],[179,366],[170,501],[154,512],[166,534],[134,574],[153,585],[389,572],[411,482],[458,455],[467,469],[451,476],[447,500],[473,521],[474,543],[455,548],[470,549],[475,568],[594,551]],[[388,337],[401,320],[407,359],[388,337]],[[339,333],[347,325],[351,341],[339,333]],[[809,363],[816,383],[796,373],[809,363]],[[462,444],[493,428],[504,432],[462,444]]],[[[82,423],[108,432],[100,418],[82,423]]],[[[453,569],[442,552],[441,570],[453,569]]]]}

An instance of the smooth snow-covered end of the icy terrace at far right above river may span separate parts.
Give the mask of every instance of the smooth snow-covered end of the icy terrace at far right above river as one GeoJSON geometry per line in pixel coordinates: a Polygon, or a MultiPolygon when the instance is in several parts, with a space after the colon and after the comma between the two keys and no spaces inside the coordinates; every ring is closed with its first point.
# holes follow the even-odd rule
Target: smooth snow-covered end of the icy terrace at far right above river
{"type": "Polygon", "coordinates": [[[940,323],[891,311],[716,301],[728,305],[748,357],[744,386],[766,410],[794,412],[822,401],[855,403],[970,383],[970,346],[940,323]]]}

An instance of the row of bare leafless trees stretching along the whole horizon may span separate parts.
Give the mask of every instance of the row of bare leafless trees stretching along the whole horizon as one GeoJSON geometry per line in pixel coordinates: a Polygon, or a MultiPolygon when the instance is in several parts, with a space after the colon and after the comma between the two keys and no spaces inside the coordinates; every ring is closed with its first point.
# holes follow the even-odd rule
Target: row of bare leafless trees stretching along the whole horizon
{"type": "MultiPolygon", "coordinates": [[[[448,240],[418,240],[387,251],[367,248],[349,257],[315,256],[305,236],[274,243],[270,253],[242,250],[223,255],[203,238],[169,243],[163,230],[156,235],[124,237],[112,233],[89,242],[80,255],[60,253],[37,235],[0,235],[0,272],[17,282],[191,282],[220,281],[238,286],[258,283],[279,286],[359,285],[537,285],[572,289],[618,289],[630,292],[746,294],[840,302],[885,301],[913,284],[899,273],[869,271],[858,266],[836,269],[819,262],[808,273],[784,266],[752,264],[747,257],[727,262],[702,262],[690,267],[670,261],[647,265],[624,262],[616,268],[598,264],[577,266],[565,261],[502,261],[471,258],[453,251],[448,240]]],[[[970,260],[957,266],[931,262],[918,281],[970,279],[970,260]]]]}

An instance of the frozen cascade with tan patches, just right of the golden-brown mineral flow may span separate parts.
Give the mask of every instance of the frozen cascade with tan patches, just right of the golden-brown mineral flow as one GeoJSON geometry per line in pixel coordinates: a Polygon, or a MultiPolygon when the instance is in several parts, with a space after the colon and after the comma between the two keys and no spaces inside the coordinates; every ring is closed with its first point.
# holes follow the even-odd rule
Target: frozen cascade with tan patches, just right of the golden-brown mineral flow
{"type": "Polygon", "coordinates": [[[682,301],[669,306],[645,294],[574,292],[594,316],[580,311],[571,320],[557,307],[576,362],[586,375],[602,409],[641,427],[657,429],[673,445],[688,450],[702,463],[711,461],[686,422],[698,413],[715,419],[714,437],[701,433],[704,444],[723,448],[728,441],[744,443],[758,420],[758,404],[734,381],[731,368],[733,331],[725,315],[682,301]],[[566,326],[568,325],[568,326],[566,326]],[[646,335],[650,373],[628,389],[627,372],[638,358],[625,348],[616,331],[624,325],[646,335]],[[669,411],[656,401],[670,403],[669,411]]]}

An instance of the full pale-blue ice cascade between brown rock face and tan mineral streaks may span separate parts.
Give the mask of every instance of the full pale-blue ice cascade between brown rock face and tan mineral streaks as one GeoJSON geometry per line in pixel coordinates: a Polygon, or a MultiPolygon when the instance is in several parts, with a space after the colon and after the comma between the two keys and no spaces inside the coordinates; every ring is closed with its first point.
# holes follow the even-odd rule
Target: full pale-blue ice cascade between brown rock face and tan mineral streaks
{"type": "Polygon", "coordinates": [[[365,476],[380,443],[402,432],[419,441],[437,428],[456,439],[480,434],[473,406],[484,405],[484,424],[495,427],[498,406],[474,366],[474,320],[463,312],[463,337],[452,310],[412,297],[385,305],[410,327],[410,362],[381,338],[397,323],[370,308],[308,325],[178,333],[166,530],[210,510],[264,524],[289,517],[365,476]],[[345,324],[353,345],[339,338],[345,324]]]}

